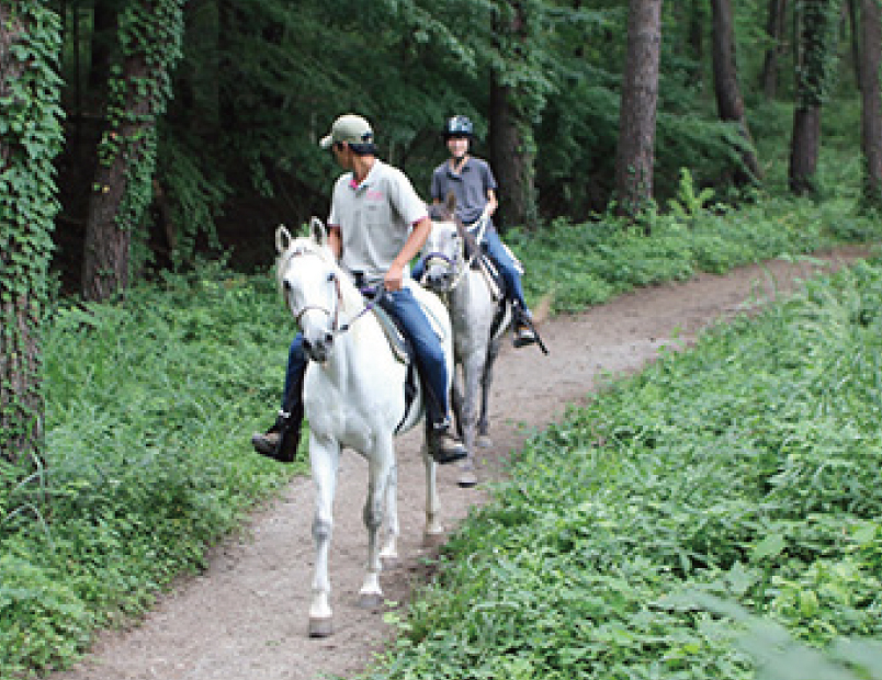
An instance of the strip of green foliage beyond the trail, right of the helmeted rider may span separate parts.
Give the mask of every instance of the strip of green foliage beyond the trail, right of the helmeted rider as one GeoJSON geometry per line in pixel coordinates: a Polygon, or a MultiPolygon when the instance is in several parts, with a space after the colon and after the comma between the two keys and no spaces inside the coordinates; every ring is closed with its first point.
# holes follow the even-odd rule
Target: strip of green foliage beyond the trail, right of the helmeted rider
{"type": "Polygon", "coordinates": [[[689,219],[677,212],[645,216],[651,236],[604,215],[596,222],[553,222],[538,234],[507,233],[523,260],[528,298],[552,297],[555,311],[578,311],[635,287],[724,273],[740,264],[800,256],[843,241],[879,238],[879,223],[850,201],[760,197],[738,211],[700,209],[708,193],[683,185],[689,219]],[[687,197],[687,193],[691,192],[687,197]],[[700,199],[700,196],[703,196],[700,199]]]}

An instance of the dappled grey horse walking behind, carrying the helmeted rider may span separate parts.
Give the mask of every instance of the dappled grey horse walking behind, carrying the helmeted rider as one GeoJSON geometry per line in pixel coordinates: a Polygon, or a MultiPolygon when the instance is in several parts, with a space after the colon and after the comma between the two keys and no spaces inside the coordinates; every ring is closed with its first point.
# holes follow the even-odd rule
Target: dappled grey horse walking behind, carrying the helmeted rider
{"type": "Polygon", "coordinates": [[[462,371],[453,382],[452,406],[468,456],[460,464],[459,484],[477,484],[475,445],[489,447],[488,400],[493,366],[511,326],[511,306],[499,299],[489,272],[477,261],[479,248],[455,215],[451,194],[430,212],[432,230],[422,247],[420,283],[440,295],[453,325],[454,362],[462,371]],[[466,256],[466,242],[471,240],[466,256]]]}

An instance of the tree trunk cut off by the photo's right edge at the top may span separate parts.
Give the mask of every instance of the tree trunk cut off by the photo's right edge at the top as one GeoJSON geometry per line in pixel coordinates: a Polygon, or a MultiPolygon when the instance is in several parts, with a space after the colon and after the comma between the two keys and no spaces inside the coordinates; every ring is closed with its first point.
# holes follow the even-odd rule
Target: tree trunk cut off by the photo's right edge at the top
{"type": "Polygon", "coordinates": [[[879,0],[861,0],[861,146],[863,148],[863,200],[882,208],[882,94],[879,68],[882,61],[882,16],[879,0]]]}

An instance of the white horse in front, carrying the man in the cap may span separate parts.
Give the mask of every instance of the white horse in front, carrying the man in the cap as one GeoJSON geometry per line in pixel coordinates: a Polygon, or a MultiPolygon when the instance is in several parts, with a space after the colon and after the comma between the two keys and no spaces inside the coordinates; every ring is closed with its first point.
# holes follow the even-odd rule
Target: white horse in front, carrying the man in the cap
{"type": "MultiPolygon", "coordinates": [[[[368,573],[359,591],[362,607],[382,604],[381,558],[397,556],[398,517],[394,439],[422,418],[419,394],[406,404],[408,367],[396,358],[384,330],[350,276],[337,264],[328,247],[325,225],[310,223],[312,237],[292,238],[284,227],[275,234],[279,251],[276,277],[281,293],[304,337],[309,359],[304,379],[304,409],[309,422],[309,463],[316,489],[313,537],[316,545],[309,635],[324,637],[333,630],[328,578],[333,495],[340,452],[353,449],[368,460],[368,499],[364,524],[368,530],[368,573]],[[385,515],[385,517],[384,517],[385,515]],[[386,542],[380,547],[380,530],[387,525],[386,542]]],[[[449,358],[452,375],[450,319],[432,294],[409,284],[428,306],[449,358]]],[[[419,381],[416,381],[419,393],[419,381]]],[[[443,533],[438,522],[436,463],[423,442],[426,464],[427,541],[443,533]]]]}

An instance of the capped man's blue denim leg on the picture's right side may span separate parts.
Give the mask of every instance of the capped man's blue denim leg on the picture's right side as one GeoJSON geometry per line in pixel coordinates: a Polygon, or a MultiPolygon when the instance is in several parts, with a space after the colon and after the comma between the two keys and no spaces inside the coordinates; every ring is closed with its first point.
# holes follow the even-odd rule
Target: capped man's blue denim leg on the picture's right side
{"type": "Polygon", "coordinates": [[[449,394],[448,367],[444,363],[444,350],[441,342],[410,291],[402,288],[387,293],[386,297],[392,303],[386,309],[400,321],[414,344],[422,384],[429,393],[426,395],[428,420],[432,424],[443,422],[448,417],[449,394]]]}

